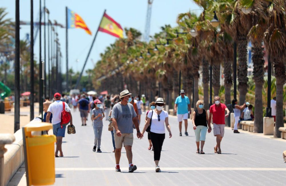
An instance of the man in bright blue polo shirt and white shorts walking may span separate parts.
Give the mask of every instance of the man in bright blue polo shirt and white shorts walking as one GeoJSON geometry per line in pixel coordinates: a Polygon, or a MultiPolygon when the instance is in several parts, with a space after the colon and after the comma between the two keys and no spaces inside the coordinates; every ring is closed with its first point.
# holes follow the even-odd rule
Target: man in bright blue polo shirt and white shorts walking
{"type": "Polygon", "coordinates": [[[185,123],[185,135],[188,136],[188,112],[191,110],[190,100],[185,96],[185,91],[181,90],[180,96],[176,98],[174,112],[177,113],[180,136],[182,136],[182,121],[185,123]]]}

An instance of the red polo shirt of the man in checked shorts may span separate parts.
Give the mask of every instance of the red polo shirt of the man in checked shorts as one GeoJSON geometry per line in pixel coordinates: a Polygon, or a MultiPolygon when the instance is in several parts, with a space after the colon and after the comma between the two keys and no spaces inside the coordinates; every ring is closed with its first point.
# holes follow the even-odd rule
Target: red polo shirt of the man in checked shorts
{"type": "Polygon", "coordinates": [[[225,109],[227,106],[220,103],[219,106],[213,104],[210,106],[210,113],[212,113],[212,123],[225,124],[225,109]]]}

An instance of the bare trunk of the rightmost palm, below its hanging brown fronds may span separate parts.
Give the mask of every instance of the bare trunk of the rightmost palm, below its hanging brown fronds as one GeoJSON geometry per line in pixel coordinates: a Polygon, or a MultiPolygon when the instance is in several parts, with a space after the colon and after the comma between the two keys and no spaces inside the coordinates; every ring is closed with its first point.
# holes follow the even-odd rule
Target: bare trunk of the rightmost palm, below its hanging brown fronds
{"type": "MultiPolygon", "coordinates": [[[[280,138],[281,133],[279,127],[284,127],[283,118],[283,85],[285,83],[286,74],[283,61],[274,60],[275,77],[276,77],[276,121],[274,128],[274,138],[280,138]]],[[[255,116],[256,117],[256,116],[255,116]]]]}

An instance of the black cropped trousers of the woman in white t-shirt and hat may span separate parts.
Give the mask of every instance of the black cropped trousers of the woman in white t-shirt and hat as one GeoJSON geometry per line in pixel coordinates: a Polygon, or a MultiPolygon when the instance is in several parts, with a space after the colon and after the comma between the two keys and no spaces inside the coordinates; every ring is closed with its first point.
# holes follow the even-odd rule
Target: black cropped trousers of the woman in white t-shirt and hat
{"type": "Polygon", "coordinates": [[[160,160],[161,150],[165,139],[165,134],[150,132],[151,142],[154,147],[154,161],[160,160]]]}

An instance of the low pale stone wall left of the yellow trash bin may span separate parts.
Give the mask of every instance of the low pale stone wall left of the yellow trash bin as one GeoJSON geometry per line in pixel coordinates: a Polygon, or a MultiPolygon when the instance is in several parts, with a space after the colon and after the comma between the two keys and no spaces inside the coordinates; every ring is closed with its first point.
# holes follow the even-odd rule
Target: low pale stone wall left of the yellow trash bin
{"type": "Polygon", "coordinates": [[[4,163],[0,170],[2,175],[0,181],[1,186],[9,183],[13,175],[24,162],[22,129],[15,132],[14,137],[15,141],[12,144],[5,145],[7,152],[4,153],[4,163]]]}

